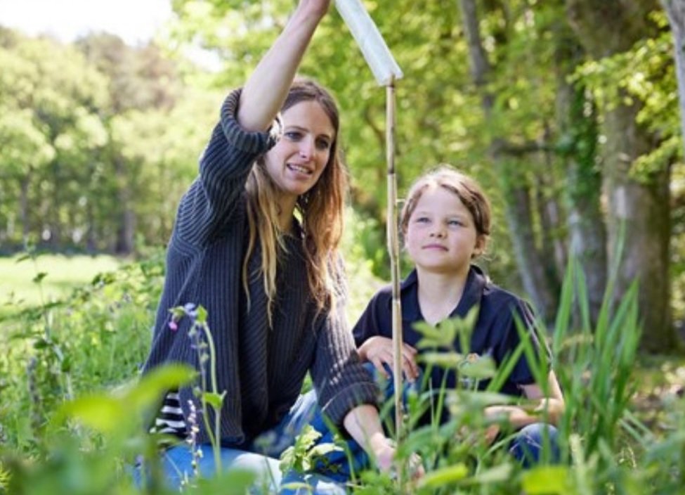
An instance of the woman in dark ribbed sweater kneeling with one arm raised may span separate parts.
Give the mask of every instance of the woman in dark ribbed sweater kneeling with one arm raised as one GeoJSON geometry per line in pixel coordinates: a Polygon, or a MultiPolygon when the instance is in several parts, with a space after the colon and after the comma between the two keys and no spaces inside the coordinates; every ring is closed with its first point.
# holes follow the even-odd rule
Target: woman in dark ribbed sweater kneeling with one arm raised
{"type": "MultiPolygon", "coordinates": [[[[170,308],[202,304],[216,346],[218,391],[226,391],[222,467],[257,470],[272,489],[280,482],[273,457],[303,423],[296,401],[308,372],[322,411],[381,470],[391,468],[394,455],[375,407],[377,388],[359,362],[342,308],[337,247],[346,172],[337,108],[317,84],[293,83],[329,6],[330,0],[300,0],[247,83],[223,103],[200,176],[178,208],[144,367],[180,361],[209,373],[209,361],[200,363],[191,346],[188,319],[169,328],[176,326],[170,308]],[[266,463],[260,453],[270,456],[266,463]]],[[[185,437],[199,399],[184,387],[165,402],[157,430],[185,437]]],[[[197,423],[200,471],[211,475],[211,437],[197,423]]],[[[193,474],[188,446],[167,450],[163,461],[171,485],[193,474]]]]}

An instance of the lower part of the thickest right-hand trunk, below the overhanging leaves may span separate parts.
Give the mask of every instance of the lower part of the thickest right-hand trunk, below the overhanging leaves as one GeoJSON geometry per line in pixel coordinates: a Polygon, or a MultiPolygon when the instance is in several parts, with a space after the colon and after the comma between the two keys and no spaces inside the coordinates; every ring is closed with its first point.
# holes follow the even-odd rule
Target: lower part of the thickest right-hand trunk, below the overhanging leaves
{"type": "Polygon", "coordinates": [[[630,176],[634,160],[650,148],[646,132],[636,122],[638,111],[637,105],[621,105],[604,117],[609,255],[612,266],[619,264],[617,298],[634,280],[639,282],[644,347],[651,352],[670,352],[676,344],[669,277],[670,168],[655,172],[644,183],[630,176]],[[615,259],[618,243],[622,243],[622,255],[615,259]]]}

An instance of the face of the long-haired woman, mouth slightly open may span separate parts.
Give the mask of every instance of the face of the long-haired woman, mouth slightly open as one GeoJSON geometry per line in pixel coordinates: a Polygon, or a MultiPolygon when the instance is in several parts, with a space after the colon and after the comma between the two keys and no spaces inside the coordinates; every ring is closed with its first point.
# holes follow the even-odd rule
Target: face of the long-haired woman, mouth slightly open
{"type": "Polygon", "coordinates": [[[316,101],[301,101],[282,113],[283,136],[264,157],[281,200],[295,200],[318,181],[335,139],[333,124],[316,101]]]}

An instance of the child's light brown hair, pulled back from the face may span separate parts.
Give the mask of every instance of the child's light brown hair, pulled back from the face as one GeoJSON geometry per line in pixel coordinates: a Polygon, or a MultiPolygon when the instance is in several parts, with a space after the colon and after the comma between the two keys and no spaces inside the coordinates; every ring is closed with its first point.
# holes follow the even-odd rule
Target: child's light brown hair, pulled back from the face
{"type": "Polygon", "coordinates": [[[402,236],[407,235],[409,219],[416,210],[419,199],[429,186],[445,188],[459,197],[459,200],[462,201],[474,219],[476,234],[481,243],[481,250],[478,254],[482,254],[490,236],[490,202],[478,182],[448,164],[438,165],[435,169],[423,174],[409,188],[407,199],[400,214],[402,236]]]}

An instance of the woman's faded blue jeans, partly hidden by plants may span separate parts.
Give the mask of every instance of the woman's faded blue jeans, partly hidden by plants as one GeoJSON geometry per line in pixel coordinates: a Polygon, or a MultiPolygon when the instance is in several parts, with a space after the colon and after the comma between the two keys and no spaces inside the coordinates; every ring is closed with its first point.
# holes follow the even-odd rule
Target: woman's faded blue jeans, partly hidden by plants
{"type": "MultiPolygon", "coordinates": [[[[256,481],[252,491],[255,494],[346,494],[344,483],[329,479],[319,473],[302,475],[294,471],[288,473],[281,473],[280,471],[278,457],[285,449],[294,444],[295,438],[302,428],[311,421],[322,422],[316,395],[313,392],[301,395],[289,413],[275,428],[263,432],[246,449],[221,448],[222,470],[242,470],[254,473],[256,481]],[[315,418],[317,414],[319,419],[315,418]],[[288,484],[303,483],[308,487],[287,487],[288,484]]],[[[332,433],[330,431],[328,433],[332,438],[332,433]]],[[[322,440],[319,443],[321,442],[322,440]]],[[[202,444],[196,449],[202,451],[202,457],[197,458],[198,472],[202,477],[213,476],[216,473],[216,466],[214,465],[214,452],[211,444],[202,444]]],[[[190,446],[186,444],[174,446],[164,451],[160,462],[164,473],[164,482],[171,489],[178,490],[183,480],[192,479],[195,475],[192,464],[193,452],[190,450],[190,446]]],[[[141,469],[141,466],[136,466],[133,469],[133,480],[138,487],[145,483],[141,469]]]]}

